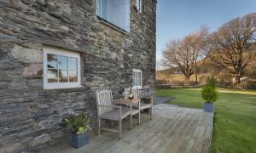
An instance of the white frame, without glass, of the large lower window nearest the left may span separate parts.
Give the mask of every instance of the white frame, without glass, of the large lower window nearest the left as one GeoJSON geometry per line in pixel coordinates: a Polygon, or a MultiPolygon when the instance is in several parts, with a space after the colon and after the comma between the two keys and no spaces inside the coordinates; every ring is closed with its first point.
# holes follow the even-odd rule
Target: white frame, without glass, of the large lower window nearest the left
{"type": "MultiPolygon", "coordinates": [[[[80,88],[81,86],[81,56],[77,52],[69,51],[61,48],[43,48],[43,78],[44,78],[44,89],[56,89],[56,88],[80,88]],[[77,59],[77,76],[78,82],[48,82],[48,61],[47,54],[55,54],[58,56],[67,56],[68,58],[77,59]]],[[[57,68],[59,70],[59,68],[57,68]]],[[[68,71],[68,69],[67,69],[68,71]]],[[[59,72],[59,71],[58,71],[59,72]]]]}

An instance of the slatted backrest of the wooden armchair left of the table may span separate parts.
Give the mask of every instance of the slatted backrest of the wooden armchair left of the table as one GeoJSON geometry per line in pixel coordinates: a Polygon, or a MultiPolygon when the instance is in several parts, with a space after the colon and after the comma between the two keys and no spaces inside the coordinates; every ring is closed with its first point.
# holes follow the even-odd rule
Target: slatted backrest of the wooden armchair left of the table
{"type": "Polygon", "coordinates": [[[97,114],[101,116],[102,114],[112,111],[111,107],[99,107],[98,105],[112,105],[113,98],[111,90],[102,90],[96,91],[96,105],[97,105],[97,114]]]}

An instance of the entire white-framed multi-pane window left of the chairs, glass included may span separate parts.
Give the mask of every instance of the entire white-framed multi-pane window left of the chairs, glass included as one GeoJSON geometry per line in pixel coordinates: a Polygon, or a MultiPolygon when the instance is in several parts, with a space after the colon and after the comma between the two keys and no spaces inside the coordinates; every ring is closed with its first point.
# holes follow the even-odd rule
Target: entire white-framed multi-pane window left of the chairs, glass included
{"type": "Polygon", "coordinates": [[[44,88],[81,87],[80,54],[61,48],[44,48],[44,88]]]}

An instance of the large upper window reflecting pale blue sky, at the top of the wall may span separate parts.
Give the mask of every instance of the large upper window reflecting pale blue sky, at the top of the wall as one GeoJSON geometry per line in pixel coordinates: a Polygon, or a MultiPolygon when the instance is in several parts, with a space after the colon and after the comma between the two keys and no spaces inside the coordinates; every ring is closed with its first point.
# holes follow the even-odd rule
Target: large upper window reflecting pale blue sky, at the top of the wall
{"type": "Polygon", "coordinates": [[[130,0],[96,0],[96,15],[124,31],[130,31],[130,0]]]}

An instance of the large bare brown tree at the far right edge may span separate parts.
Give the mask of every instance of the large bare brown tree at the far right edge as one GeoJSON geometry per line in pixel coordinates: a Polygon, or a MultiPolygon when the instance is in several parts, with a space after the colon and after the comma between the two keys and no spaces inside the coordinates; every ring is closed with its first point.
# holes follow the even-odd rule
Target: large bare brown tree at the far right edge
{"type": "Polygon", "coordinates": [[[210,59],[239,80],[244,76],[247,65],[256,57],[256,52],[249,49],[255,41],[255,33],[256,14],[230,20],[211,34],[210,59]]]}

